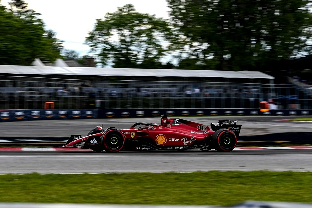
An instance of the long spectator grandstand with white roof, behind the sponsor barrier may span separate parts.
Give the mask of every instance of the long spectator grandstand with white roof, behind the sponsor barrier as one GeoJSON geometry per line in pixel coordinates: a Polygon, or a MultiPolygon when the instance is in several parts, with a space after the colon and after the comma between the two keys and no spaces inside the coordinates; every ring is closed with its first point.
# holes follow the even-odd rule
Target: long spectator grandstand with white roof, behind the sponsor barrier
{"type": "Polygon", "coordinates": [[[312,106],[297,86],[256,71],[0,65],[0,109],[258,108],[269,99],[278,108],[312,106]]]}

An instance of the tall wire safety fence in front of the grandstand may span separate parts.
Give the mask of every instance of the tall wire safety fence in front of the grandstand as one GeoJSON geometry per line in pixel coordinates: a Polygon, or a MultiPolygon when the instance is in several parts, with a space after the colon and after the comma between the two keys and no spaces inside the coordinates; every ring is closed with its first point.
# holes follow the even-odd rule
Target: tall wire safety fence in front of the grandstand
{"type": "Polygon", "coordinates": [[[0,109],[257,109],[262,101],[270,109],[312,109],[312,87],[0,76],[0,109]]]}

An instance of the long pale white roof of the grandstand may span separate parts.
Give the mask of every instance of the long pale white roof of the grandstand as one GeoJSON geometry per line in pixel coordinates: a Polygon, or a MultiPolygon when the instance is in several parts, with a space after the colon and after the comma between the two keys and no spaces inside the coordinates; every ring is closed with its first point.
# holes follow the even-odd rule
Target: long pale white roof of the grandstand
{"type": "Polygon", "coordinates": [[[131,76],[131,77],[219,77],[243,79],[274,79],[259,71],[215,71],[181,69],[133,69],[92,68],[66,66],[13,66],[0,65],[0,75],[87,75],[87,76],[131,76]]]}

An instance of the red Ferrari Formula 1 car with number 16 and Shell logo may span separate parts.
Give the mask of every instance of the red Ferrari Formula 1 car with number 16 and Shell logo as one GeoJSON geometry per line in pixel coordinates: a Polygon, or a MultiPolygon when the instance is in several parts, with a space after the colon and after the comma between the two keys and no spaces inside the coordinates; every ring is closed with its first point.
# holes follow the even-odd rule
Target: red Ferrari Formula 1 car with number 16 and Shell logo
{"type": "Polygon", "coordinates": [[[63,147],[90,148],[96,152],[186,149],[229,152],[235,148],[242,127],[236,122],[219,120],[211,123],[210,129],[207,125],[163,115],[160,125],[139,122],[120,130],[97,126],[87,136],[71,135],[63,147]]]}

